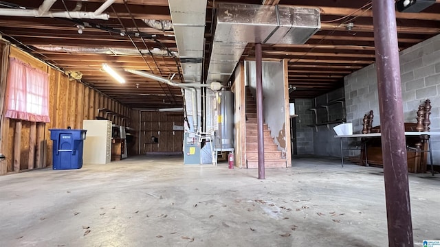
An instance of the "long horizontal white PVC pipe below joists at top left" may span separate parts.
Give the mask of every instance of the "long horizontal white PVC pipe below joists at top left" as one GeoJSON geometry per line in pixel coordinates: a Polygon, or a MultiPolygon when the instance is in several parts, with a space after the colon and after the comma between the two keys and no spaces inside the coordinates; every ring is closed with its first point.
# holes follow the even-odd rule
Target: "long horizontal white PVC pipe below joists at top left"
{"type": "Polygon", "coordinates": [[[38,10],[19,10],[19,9],[6,9],[0,8],[0,16],[30,16],[30,17],[58,17],[58,18],[76,18],[76,19],[102,19],[108,20],[108,14],[96,15],[94,12],[46,12],[43,15],[39,15],[38,10]]]}

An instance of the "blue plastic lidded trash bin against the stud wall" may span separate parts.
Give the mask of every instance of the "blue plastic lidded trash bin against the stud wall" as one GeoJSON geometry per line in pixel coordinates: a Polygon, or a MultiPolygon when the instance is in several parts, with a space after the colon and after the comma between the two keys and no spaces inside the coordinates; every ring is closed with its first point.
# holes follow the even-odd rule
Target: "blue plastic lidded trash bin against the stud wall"
{"type": "Polygon", "coordinates": [[[83,167],[83,145],[87,130],[50,129],[52,169],[83,167]]]}

